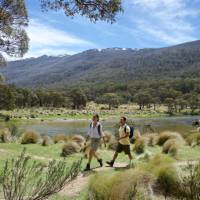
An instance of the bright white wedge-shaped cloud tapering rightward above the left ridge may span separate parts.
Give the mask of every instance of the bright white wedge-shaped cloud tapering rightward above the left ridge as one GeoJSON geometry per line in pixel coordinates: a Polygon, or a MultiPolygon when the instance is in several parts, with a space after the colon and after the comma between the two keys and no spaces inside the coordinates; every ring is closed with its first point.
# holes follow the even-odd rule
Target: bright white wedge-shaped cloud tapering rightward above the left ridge
{"type": "Polygon", "coordinates": [[[27,28],[30,38],[29,52],[25,57],[37,57],[39,55],[59,55],[77,53],[76,48],[92,48],[94,43],[72,35],[53,26],[41,23],[37,19],[31,19],[27,28]]]}

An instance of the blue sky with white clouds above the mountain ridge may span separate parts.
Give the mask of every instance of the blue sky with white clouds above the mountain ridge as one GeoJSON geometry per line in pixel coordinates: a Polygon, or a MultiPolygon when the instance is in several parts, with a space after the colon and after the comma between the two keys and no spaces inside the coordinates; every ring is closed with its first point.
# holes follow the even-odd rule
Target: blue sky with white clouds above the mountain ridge
{"type": "Polygon", "coordinates": [[[124,12],[114,24],[42,12],[40,0],[25,2],[30,38],[25,58],[112,47],[158,48],[200,37],[200,0],[122,0],[124,12]]]}

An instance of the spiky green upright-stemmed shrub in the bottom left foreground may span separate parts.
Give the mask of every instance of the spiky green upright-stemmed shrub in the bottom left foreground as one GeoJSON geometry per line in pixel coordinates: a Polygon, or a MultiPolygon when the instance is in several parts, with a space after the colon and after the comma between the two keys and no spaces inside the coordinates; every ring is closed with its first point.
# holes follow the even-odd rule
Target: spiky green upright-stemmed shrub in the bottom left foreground
{"type": "Polygon", "coordinates": [[[67,167],[65,161],[47,166],[32,162],[25,151],[17,159],[6,161],[1,174],[5,200],[44,200],[60,191],[80,170],[81,161],[67,167]]]}

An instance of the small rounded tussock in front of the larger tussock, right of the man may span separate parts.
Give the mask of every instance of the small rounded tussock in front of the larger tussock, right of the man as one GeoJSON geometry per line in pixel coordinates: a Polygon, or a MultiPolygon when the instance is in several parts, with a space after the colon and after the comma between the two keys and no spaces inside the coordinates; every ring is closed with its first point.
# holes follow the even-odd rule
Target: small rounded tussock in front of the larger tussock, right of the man
{"type": "Polygon", "coordinates": [[[169,139],[163,145],[163,153],[176,156],[178,152],[179,144],[176,139],[169,139]]]}

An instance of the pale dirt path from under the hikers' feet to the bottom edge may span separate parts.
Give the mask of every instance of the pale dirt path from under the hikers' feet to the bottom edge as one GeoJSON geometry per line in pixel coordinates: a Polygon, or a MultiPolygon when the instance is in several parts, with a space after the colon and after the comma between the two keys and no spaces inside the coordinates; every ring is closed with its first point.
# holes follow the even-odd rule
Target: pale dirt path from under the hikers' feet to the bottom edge
{"type": "Polygon", "coordinates": [[[80,173],[76,177],[76,179],[74,179],[72,182],[70,182],[63,188],[63,190],[60,192],[60,195],[67,196],[71,199],[75,199],[80,194],[80,192],[85,188],[85,186],[88,184],[89,178],[92,174],[101,172],[101,171],[109,171],[113,169],[126,169],[126,168],[127,168],[127,163],[115,163],[114,168],[105,166],[101,168],[99,167],[99,168],[92,169],[91,172],[80,173]]]}

